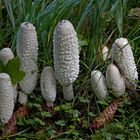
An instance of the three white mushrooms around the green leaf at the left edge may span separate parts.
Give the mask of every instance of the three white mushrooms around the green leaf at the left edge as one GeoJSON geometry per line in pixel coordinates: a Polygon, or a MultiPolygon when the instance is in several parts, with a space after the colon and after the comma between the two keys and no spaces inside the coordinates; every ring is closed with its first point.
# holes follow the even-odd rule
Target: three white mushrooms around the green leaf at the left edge
{"type": "MultiPolygon", "coordinates": [[[[17,84],[12,85],[11,77],[7,73],[0,73],[0,120],[3,124],[11,118],[14,110],[14,103],[26,104],[28,94],[30,94],[37,84],[37,57],[38,42],[35,27],[29,23],[21,24],[17,33],[17,56],[19,57],[21,67],[26,75],[19,81],[20,91],[17,91],[17,84]]],[[[0,50],[0,61],[5,68],[9,60],[14,58],[10,48],[0,50]]]]}

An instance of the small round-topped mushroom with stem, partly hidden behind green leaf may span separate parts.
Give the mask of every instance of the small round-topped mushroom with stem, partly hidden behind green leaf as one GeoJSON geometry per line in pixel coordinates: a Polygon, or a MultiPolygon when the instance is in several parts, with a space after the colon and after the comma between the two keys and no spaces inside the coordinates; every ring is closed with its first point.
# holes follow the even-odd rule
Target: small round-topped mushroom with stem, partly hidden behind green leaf
{"type": "MultiPolygon", "coordinates": [[[[0,60],[2,61],[2,63],[4,65],[6,65],[8,63],[9,60],[14,58],[14,53],[12,52],[12,50],[10,48],[3,48],[0,50],[0,60]]],[[[16,103],[17,101],[17,95],[18,95],[18,91],[17,91],[17,84],[13,85],[13,89],[14,89],[14,102],[16,103]]]]}

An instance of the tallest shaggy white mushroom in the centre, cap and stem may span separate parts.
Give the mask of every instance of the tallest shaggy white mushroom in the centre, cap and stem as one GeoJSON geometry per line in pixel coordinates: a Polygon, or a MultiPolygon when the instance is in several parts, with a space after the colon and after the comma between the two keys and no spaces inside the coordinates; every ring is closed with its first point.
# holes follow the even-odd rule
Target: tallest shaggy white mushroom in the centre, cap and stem
{"type": "Polygon", "coordinates": [[[73,82],[79,74],[79,45],[77,33],[67,20],[58,22],[54,30],[53,58],[56,78],[63,86],[64,98],[72,100],[73,82]]]}

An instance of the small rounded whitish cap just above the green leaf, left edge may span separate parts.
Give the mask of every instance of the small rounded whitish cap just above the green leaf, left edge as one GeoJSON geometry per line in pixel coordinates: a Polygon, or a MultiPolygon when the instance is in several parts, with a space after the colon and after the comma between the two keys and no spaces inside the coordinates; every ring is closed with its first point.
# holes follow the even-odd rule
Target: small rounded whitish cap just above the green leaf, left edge
{"type": "Polygon", "coordinates": [[[4,65],[6,65],[8,61],[13,58],[14,58],[14,54],[10,48],[3,48],[0,50],[0,60],[4,65]]]}

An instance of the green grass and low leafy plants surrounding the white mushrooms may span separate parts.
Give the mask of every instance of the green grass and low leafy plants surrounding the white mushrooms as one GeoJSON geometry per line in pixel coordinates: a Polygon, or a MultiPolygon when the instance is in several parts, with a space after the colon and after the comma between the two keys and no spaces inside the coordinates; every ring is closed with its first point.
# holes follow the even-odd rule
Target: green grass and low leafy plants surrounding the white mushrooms
{"type": "MultiPolygon", "coordinates": [[[[107,102],[98,102],[90,85],[93,69],[105,73],[107,63],[102,61],[101,48],[111,48],[118,37],[126,37],[132,44],[136,64],[139,67],[139,19],[129,17],[138,0],[4,0],[0,1],[0,48],[11,47],[15,52],[16,33],[22,22],[35,25],[39,41],[39,73],[46,65],[53,66],[52,35],[58,21],[71,21],[81,42],[80,74],[74,83],[75,99],[65,102],[58,83],[55,108],[48,112],[40,93],[39,83],[29,99],[30,116],[18,119],[18,132],[11,139],[140,139],[140,105],[138,101],[124,102],[119,106],[113,122],[94,133],[90,121],[101,112],[107,102]],[[137,106],[135,105],[137,104],[137,106]],[[56,113],[54,115],[54,112],[56,113]]],[[[8,137],[5,136],[5,139],[8,137]]]]}

